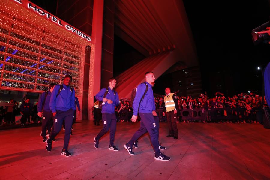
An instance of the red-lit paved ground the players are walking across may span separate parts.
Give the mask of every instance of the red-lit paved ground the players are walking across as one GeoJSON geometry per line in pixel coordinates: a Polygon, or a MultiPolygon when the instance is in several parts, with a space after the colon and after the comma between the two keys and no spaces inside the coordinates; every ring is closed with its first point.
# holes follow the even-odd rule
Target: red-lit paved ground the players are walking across
{"type": "Polygon", "coordinates": [[[179,123],[179,139],[166,138],[161,123],[160,143],[171,161],[154,160],[149,136],[143,136],[128,154],[123,145],[140,123],[117,123],[115,145],[109,134],[95,149],[101,126],[76,123],[70,139],[70,157],[61,156],[62,130],[52,151],[45,150],[41,127],[0,131],[0,179],[270,179],[270,130],[259,124],[179,123]]]}

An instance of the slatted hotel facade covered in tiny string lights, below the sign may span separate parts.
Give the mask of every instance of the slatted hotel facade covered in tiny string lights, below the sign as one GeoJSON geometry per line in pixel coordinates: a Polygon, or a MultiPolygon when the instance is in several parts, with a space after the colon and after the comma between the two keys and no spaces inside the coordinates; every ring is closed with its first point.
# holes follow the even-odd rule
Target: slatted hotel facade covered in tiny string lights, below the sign
{"type": "Polygon", "coordinates": [[[85,45],[75,41],[79,37],[74,37],[74,41],[61,37],[61,31],[67,30],[59,32],[57,24],[33,21],[41,17],[25,7],[14,6],[7,10],[6,3],[14,2],[1,0],[0,4],[1,88],[41,92],[47,90],[50,83],[60,84],[62,78],[70,74],[71,86],[81,95],[85,45]],[[58,32],[52,33],[51,29],[58,32]]]}

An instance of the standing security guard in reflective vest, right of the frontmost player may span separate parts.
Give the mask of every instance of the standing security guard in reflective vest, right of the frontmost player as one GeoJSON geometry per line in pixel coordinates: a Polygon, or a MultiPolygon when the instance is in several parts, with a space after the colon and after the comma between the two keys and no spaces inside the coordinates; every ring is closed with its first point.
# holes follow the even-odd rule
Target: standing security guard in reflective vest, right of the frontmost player
{"type": "Polygon", "coordinates": [[[164,97],[164,107],[163,107],[163,116],[165,116],[165,111],[167,111],[167,122],[170,130],[170,134],[167,137],[173,137],[178,139],[178,130],[177,130],[177,109],[178,102],[177,96],[174,93],[171,93],[170,88],[165,89],[166,96],[164,97]]]}

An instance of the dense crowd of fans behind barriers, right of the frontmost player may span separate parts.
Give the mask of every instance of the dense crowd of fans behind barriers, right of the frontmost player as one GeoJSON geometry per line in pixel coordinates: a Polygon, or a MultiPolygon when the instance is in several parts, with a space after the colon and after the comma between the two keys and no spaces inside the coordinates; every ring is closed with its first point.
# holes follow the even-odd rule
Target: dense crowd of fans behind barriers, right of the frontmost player
{"type": "MultiPolygon", "coordinates": [[[[262,96],[254,95],[253,92],[249,94],[240,93],[232,97],[225,97],[222,93],[216,93],[216,96],[210,98],[207,94],[201,94],[199,98],[192,98],[191,96],[182,97],[177,96],[179,111],[183,113],[187,109],[201,109],[206,120],[182,120],[181,113],[178,113],[178,122],[227,122],[227,123],[258,123],[256,121],[256,113],[260,107],[267,107],[266,100],[262,101],[262,96]],[[263,103],[262,103],[263,102],[263,103]],[[233,120],[222,120],[222,117],[228,116],[227,108],[232,108],[232,113],[235,116],[233,120]],[[219,117],[217,119],[217,116],[219,117]]],[[[163,109],[163,97],[156,97],[156,110],[163,109]]],[[[191,112],[193,113],[193,112],[191,112]]],[[[191,114],[190,116],[193,116],[191,114]]]]}

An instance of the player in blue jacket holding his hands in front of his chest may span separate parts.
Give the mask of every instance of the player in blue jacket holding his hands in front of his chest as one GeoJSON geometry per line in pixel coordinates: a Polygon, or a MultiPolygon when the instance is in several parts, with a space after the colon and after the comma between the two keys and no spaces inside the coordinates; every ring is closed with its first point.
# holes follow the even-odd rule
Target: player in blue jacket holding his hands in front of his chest
{"type": "Polygon", "coordinates": [[[98,148],[100,138],[106,134],[110,129],[110,145],[109,149],[118,151],[119,149],[114,146],[114,137],[116,132],[116,115],[114,113],[115,106],[119,105],[119,96],[113,90],[116,86],[116,79],[114,77],[109,79],[109,87],[103,88],[96,94],[96,99],[102,101],[102,123],[103,129],[94,138],[94,146],[98,148]]]}

